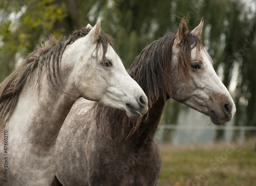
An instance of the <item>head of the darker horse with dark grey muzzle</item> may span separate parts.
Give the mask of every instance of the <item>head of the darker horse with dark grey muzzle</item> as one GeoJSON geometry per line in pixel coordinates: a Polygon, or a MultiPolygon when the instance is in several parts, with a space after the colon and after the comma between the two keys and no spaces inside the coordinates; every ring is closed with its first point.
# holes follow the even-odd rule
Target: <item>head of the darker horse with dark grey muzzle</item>
{"type": "Polygon", "coordinates": [[[203,18],[191,32],[185,18],[180,22],[172,48],[172,96],[209,116],[213,123],[222,125],[233,118],[236,106],[203,47],[202,28],[203,18]]]}

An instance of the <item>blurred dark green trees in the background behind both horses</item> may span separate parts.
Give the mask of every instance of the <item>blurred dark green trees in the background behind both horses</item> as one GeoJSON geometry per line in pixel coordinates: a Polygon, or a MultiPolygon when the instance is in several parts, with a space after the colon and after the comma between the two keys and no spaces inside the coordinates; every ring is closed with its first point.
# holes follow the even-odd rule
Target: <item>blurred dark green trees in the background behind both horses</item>
{"type": "MultiPolygon", "coordinates": [[[[204,46],[237,105],[234,125],[256,126],[255,6],[252,0],[1,0],[0,82],[50,33],[69,34],[88,23],[94,25],[98,17],[102,29],[115,38],[127,68],[147,44],[175,32],[179,17],[187,18],[190,29],[204,17],[204,46]]],[[[176,123],[184,109],[172,101],[162,121],[176,123]]],[[[217,130],[216,139],[222,138],[223,130],[217,130]]]]}

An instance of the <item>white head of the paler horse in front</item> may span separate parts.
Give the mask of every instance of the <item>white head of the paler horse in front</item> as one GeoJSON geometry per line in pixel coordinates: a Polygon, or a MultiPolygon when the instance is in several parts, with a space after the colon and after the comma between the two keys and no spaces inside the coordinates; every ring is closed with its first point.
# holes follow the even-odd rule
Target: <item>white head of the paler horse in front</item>
{"type": "Polygon", "coordinates": [[[76,94],[124,110],[131,118],[141,117],[147,112],[147,97],[126,72],[112,37],[101,31],[100,19],[87,29],[89,33],[67,47],[62,56],[73,68],[76,94]]]}

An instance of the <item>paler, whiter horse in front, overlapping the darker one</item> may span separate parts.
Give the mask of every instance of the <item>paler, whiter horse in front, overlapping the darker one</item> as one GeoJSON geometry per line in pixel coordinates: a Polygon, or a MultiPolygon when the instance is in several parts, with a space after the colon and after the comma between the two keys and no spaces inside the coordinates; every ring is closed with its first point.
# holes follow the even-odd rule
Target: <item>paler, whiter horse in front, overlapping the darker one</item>
{"type": "Polygon", "coordinates": [[[39,44],[0,85],[0,185],[51,184],[58,132],[79,97],[133,118],[147,112],[146,95],[126,72],[113,38],[100,30],[100,19],[68,39],[39,44]]]}

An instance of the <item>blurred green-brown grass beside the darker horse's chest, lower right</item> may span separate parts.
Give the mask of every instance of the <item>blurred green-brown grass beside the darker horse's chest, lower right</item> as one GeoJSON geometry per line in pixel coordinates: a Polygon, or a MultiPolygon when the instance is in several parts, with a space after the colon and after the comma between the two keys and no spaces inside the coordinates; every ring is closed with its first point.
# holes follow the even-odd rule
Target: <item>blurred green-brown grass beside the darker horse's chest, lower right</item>
{"type": "Polygon", "coordinates": [[[256,139],[243,145],[160,145],[159,186],[256,186],[256,139]]]}

